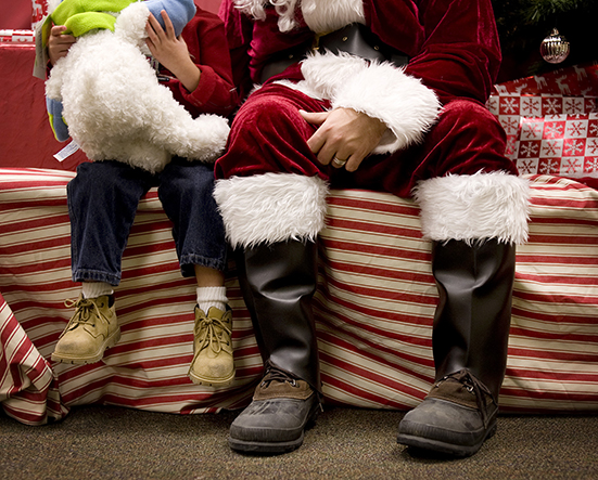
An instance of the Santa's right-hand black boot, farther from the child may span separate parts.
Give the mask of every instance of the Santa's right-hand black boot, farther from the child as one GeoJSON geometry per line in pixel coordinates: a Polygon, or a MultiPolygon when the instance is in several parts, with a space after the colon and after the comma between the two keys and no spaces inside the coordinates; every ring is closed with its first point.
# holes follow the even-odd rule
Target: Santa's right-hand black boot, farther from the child
{"type": "Polygon", "coordinates": [[[468,456],[495,433],[514,261],[514,245],[495,239],[433,245],[432,271],[440,294],[432,335],[436,384],[405,415],[399,443],[468,456]]]}

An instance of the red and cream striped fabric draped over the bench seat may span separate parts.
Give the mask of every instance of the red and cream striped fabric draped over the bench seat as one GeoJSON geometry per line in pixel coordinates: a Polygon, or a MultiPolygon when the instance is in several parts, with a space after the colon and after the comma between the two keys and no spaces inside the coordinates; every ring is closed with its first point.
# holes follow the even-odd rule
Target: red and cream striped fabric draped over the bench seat
{"type": "MultiPolygon", "coordinates": [[[[170,223],[155,190],[140,206],[116,290],[123,337],[94,365],[50,355],[78,296],[71,281],[68,171],[0,169],[0,401],[20,421],[60,419],[103,403],[193,414],[249,403],[262,360],[234,271],[238,377],[193,385],[194,283],[179,274],[170,223]]],[[[518,250],[507,412],[598,412],[598,192],[531,177],[530,243],[518,250]]],[[[332,191],[321,234],[315,310],[323,392],[330,404],[406,410],[434,376],[437,295],[418,208],[366,191],[332,191]]],[[[233,267],[233,265],[231,265],[233,267]]]]}

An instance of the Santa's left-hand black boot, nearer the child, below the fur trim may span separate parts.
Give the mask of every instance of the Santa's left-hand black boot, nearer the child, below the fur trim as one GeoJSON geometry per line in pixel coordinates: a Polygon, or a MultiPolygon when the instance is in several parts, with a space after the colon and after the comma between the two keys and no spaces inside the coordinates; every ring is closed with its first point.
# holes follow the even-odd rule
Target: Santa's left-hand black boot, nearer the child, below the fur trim
{"type": "Polygon", "coordinates": [[[319,408],[320,373],[311,297],[317,246],[289,241],[237,255],[239,281],[265,363],[252,403],[232,423],[229,445],[278,454],[303,443],[319,408]]]}

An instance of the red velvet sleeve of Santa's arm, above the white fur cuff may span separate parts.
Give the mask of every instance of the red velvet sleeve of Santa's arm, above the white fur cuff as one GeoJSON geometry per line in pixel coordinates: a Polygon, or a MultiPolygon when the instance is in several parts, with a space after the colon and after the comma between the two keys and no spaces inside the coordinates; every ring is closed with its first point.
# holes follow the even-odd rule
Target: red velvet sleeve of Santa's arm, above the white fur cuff
{"type": "Polygon", "coordinates": [[[406,73],[435,90],[442,103],[456,96],[485,102],[500,66],[491,0],[420,2],[424,35],[406,73]]]}

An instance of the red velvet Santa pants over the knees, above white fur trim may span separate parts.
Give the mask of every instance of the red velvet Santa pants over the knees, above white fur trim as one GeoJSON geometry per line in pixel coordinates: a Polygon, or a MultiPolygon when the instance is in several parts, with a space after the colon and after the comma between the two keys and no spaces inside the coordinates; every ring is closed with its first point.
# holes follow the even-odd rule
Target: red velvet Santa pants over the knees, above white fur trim
{"type": "Polygon", "coordinates": [[[322,166],[306,140],[316,131],[298,114],[322,112],[329,103],[280,85],[266,85],[249,96],[237,114],[227,153],[216,163],[216,177],[267,172],[319,176],[333,187],[385,191],[408,197],[420,180],[448,173],[473,174],[517,168],[505,157],[506,135],[497,119],[479,102],[456,99],[421,144],[390,155],[367,157],[356,172],[322,166]]]}

